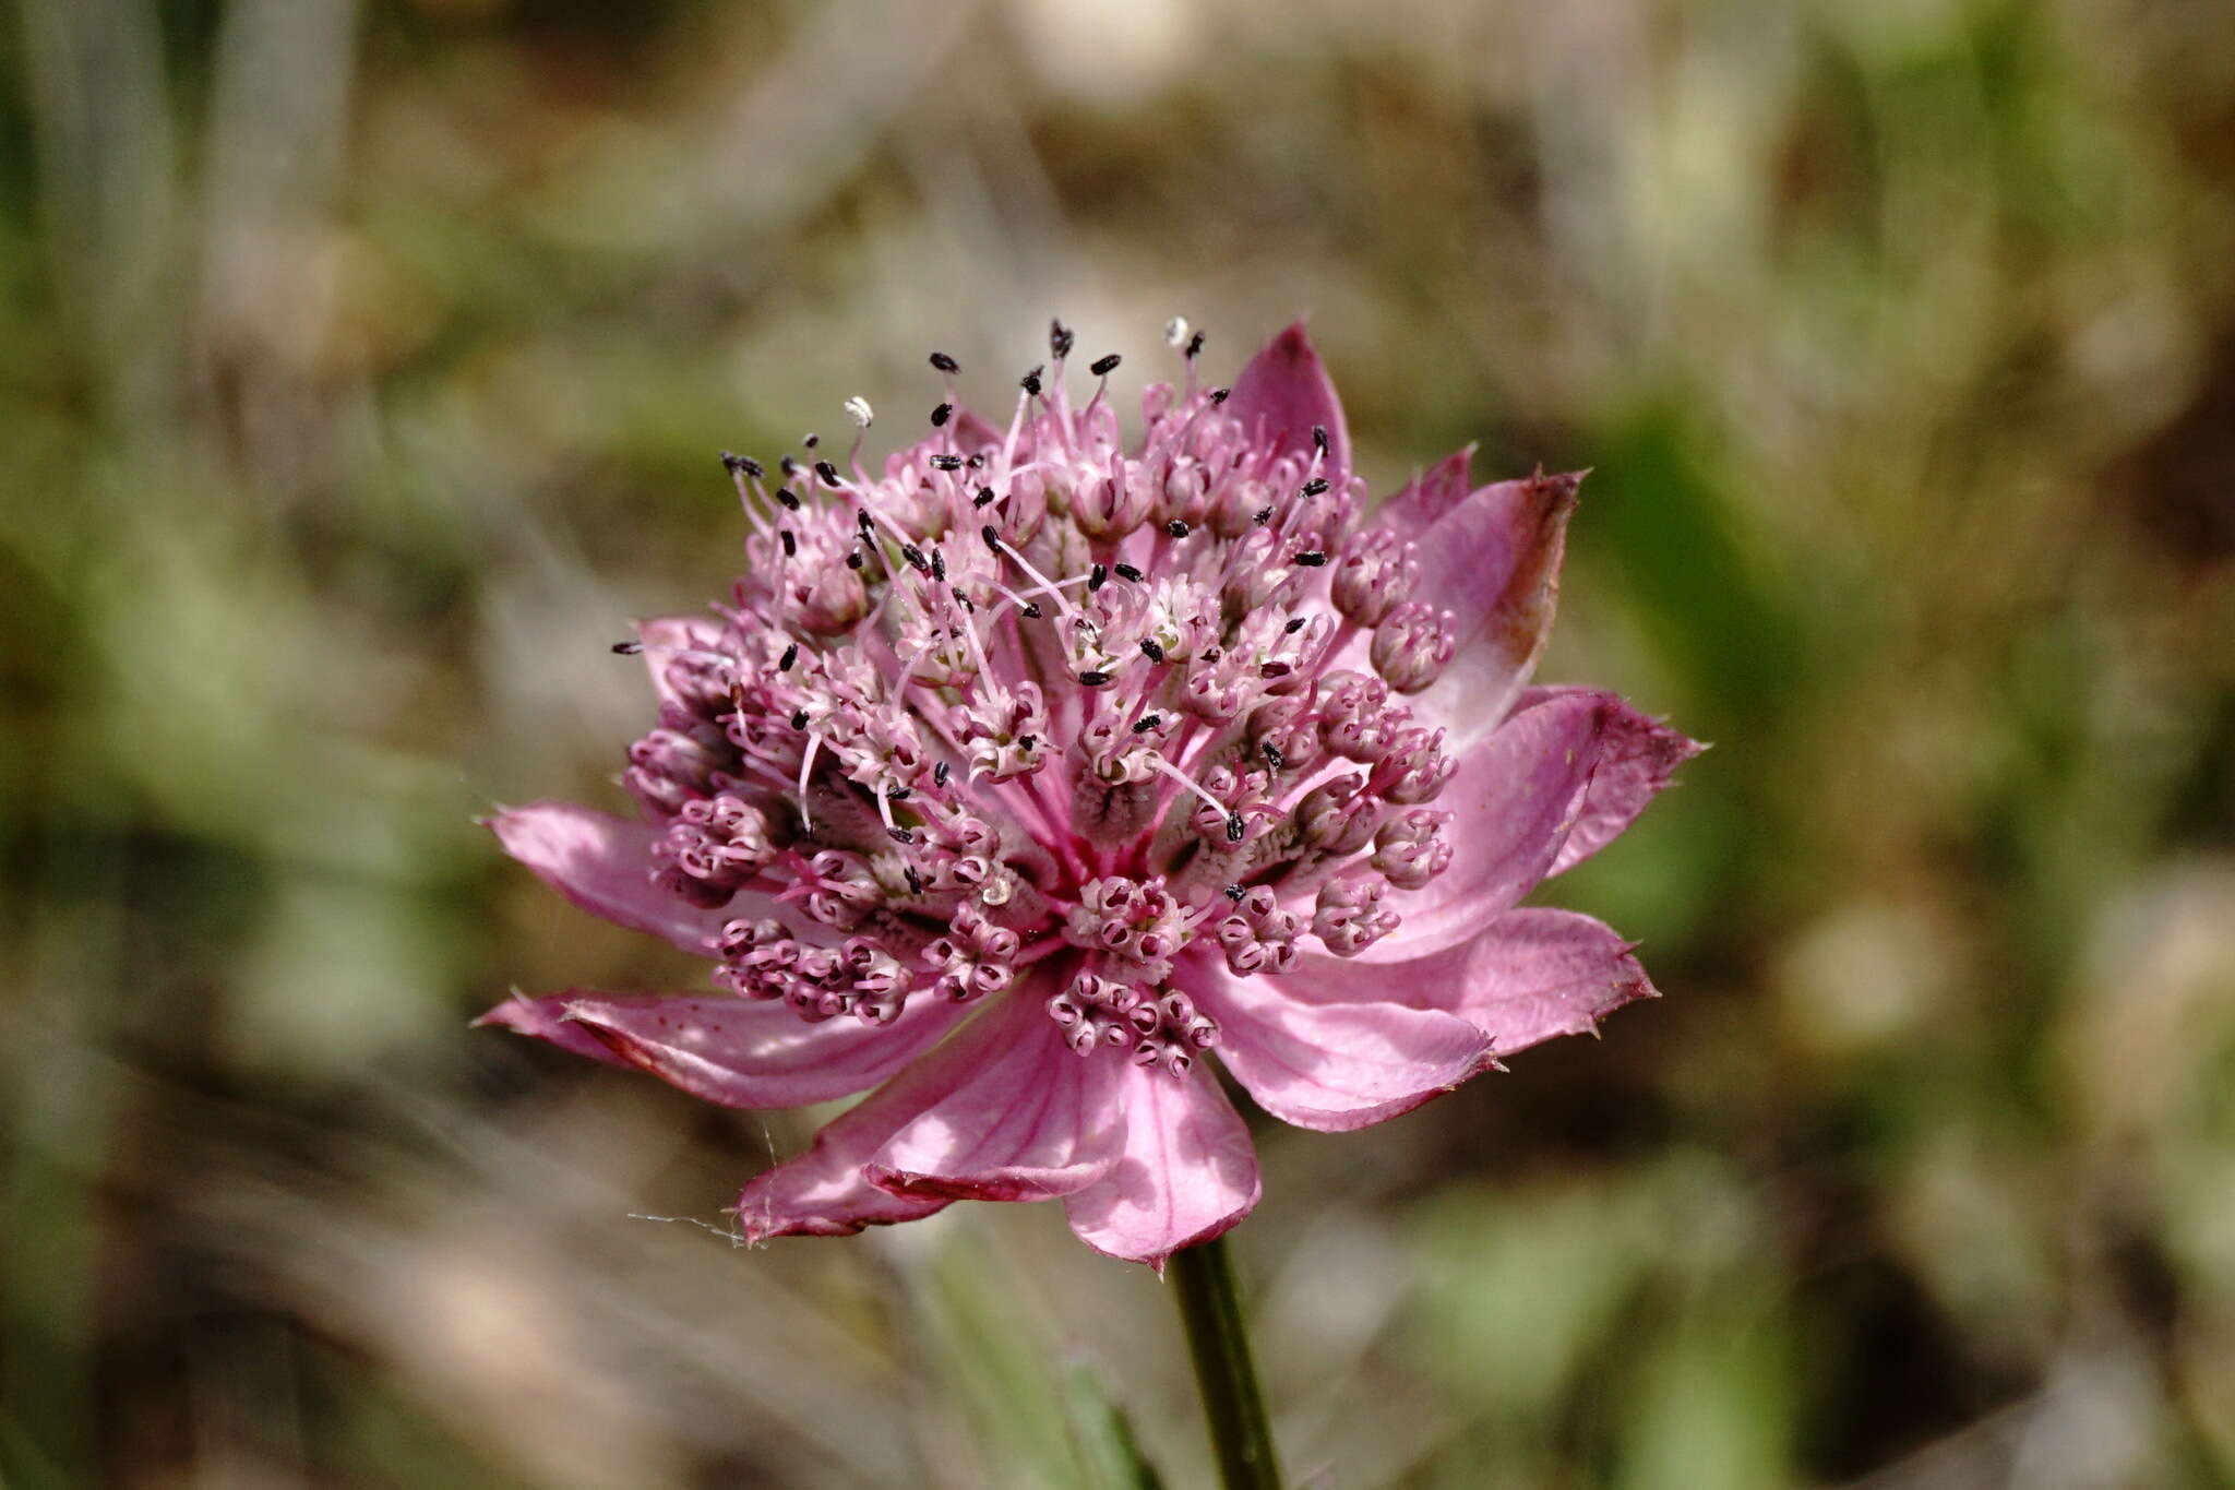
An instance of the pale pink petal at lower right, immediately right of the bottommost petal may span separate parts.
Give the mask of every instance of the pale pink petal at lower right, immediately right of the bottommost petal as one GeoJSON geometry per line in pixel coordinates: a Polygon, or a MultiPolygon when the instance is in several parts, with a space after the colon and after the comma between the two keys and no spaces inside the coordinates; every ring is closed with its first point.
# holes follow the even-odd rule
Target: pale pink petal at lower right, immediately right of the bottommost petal
{"type": "Polygon", "coordinates": [[[1399,1003],[1303,1003],[1276,978],[1200,965],[1198,1003],[1218,1021],[1218,1059],[1258,1106],[1299,1128],[1341,1133],[1410,1112],[1491,1061],[1475,1025],[1399,1003]]]}

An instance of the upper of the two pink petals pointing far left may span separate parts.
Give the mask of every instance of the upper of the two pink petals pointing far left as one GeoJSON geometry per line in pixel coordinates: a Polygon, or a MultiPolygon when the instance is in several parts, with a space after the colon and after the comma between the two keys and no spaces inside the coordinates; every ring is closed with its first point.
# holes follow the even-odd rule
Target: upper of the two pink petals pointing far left
{"type": "Polygon", "coordinates": [[[773,916],[776,900],[742,894],[724,909],[702,911],[653,885],[657,829],[574,802],[532,802],[485,820],[505,853],[536,871],[561,896],[630,932],[664,936],[684,952],[708,956],[722,925],[740,916],[773,916]]]}

